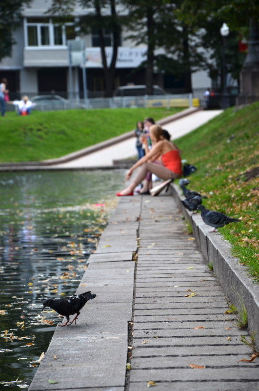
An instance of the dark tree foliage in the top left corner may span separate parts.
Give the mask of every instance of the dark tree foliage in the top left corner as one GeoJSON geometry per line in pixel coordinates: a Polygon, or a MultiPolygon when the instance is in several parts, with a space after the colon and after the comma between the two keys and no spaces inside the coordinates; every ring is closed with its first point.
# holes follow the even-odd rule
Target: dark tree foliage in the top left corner
{"type": "Polygon", "coordinates": [[[20,25],[21,10],[31,0],[0,0],[0,60],[12,55],[13,31],[20,25]]]}

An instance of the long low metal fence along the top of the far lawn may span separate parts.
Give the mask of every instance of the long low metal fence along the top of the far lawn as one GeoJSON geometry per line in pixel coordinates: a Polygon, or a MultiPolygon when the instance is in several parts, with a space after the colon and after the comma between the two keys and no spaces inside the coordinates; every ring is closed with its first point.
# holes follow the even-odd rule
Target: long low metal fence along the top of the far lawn
{"type": "MultiPolygon", "coordinates": [[[[193,94],[168,94],[168,95],[145,95],[113,98],[89,98],[89,99],[65,99],[60,95],[35,95],[23,93],[29,100],[36,103],[34,110],[68,110],[79,109],[103,109],[103,108],[135,108],[135,107],[192,107],[199,106],[199,99],[193,98],[193,94]]],[[[16,110],[11,104],[6,104],[6,111],[16,110]]]]}

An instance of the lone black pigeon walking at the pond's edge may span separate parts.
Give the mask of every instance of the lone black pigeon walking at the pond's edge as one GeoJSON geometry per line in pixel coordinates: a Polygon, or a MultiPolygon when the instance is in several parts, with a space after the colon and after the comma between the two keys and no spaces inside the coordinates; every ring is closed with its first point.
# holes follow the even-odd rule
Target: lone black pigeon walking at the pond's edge
{"type": "Polygon", "coordinates": [[[61,299],[47,299],[43,301],[43,308],[42,311],[45,307],[50,307],[52,309],[55,309],[60,315],[63,315],[66,317],[66,323],[63,325],[59,325],[61,327],[63,326],[69,326],[71,325],[74,321],[76,324],[77,317],[80,314],[80,309],[83,308],[85,303],[90,300],[94,299],[96,297],[96,294],[91,294],[91,291],[81,293],[80,295],[73,295],[73,296],[66,296],[62,297],[61,299]],[[77,314],[76,317],[72,320],[72,322],[69,322],[69,316],[77,314]]]}

